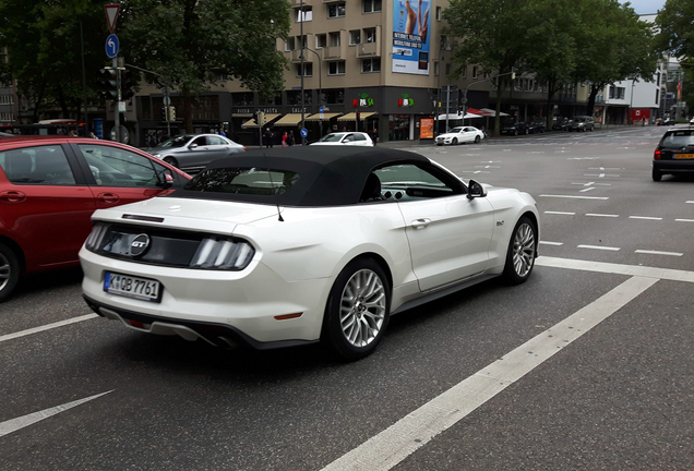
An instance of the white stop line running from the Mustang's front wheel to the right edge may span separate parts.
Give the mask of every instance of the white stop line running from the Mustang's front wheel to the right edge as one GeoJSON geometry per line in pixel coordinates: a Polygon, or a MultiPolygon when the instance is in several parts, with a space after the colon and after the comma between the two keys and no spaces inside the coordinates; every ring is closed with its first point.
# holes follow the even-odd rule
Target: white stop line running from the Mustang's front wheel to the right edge
{"type": "Polygon", "coordinates": [[[613,275],[638,276],[658,278],[669,281],[684,281],[694,283],[694,271],[677,270],[671,268],[655,268],[639,265],[621,265],[605,262],[590,262],[575,258],[560,258],[540,256],[535,261],[538,266],[567,268],[582,271],[607,273],[613,275]]]}

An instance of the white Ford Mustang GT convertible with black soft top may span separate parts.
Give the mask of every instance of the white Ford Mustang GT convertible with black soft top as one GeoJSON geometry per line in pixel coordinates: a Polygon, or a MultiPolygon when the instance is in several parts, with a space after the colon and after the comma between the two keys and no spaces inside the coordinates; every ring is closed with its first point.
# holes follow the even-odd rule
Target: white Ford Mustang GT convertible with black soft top
{"type": "Polygon", "coordinates": [[[290,147],[216,160],[168,196],[99,209],[87,304],[142,333],[371,353],[388,316],[533,271],[527,193],[404,150],[290,147]]]}

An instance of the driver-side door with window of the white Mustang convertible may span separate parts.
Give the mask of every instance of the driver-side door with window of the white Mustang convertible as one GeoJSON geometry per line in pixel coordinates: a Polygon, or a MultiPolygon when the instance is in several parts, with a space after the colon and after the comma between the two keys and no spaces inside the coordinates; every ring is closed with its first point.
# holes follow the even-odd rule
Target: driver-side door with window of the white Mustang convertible
{"type": "Polygon", "coordinates": [[[489,263],[493,208],[468,200],[464,185],[436,167],[407,164],[374,171],[383,189],[405,188],[397,205],[421,291],[481,274],[489,263]]]}

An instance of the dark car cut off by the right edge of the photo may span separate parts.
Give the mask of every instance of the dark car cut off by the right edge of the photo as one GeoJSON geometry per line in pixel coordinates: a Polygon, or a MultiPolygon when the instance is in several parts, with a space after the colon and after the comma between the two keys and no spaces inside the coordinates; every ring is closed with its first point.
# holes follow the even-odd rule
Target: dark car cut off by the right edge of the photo
{"type": "Polygon", "coordinates": [[[653,155],[653,180],[663,174],[694,172],[694,129],[671,129],[660,138],[653,155]]]}

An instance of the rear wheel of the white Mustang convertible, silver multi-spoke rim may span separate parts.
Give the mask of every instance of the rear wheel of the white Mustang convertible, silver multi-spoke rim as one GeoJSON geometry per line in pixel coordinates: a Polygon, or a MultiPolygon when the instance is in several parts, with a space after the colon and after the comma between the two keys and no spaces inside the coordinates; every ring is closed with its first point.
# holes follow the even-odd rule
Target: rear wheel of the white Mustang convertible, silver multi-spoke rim
{"type": "Polygon", "coordinates": [[[383,268],[371,258],[355,259],[331,289],[321,340],[342,360],[368,357],[383,338],[390,312],[391,288],[383,268]]]}

